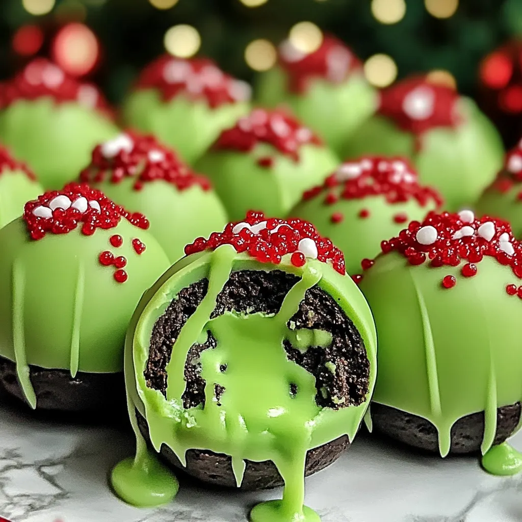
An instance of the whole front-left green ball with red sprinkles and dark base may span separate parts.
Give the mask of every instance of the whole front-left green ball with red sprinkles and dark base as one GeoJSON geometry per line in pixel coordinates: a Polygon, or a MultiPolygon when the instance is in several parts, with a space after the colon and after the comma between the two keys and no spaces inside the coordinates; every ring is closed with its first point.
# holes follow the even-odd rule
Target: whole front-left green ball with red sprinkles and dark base
{"type": "Polygon", "coordinates": [[[169,266],[142,214],[70,184],[0,230],[0,386],[32,408],[111,410],[125,331],[169,266]]]}

